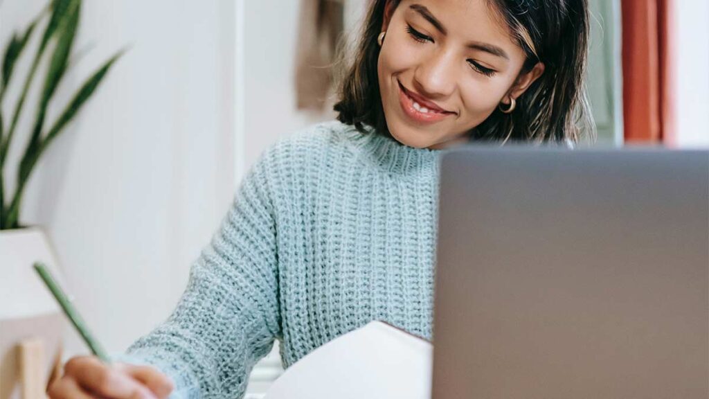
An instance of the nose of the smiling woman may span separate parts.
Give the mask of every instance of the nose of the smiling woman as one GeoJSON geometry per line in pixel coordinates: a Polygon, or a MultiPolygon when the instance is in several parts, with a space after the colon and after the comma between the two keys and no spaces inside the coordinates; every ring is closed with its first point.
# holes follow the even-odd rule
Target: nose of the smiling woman
{"type": "Polygon", "coordinates": [[[450,96],[455,90],[457,65],[452,54],[440,51],[418,65],[413,86],[419,94],[430,99],[450,96]]]}

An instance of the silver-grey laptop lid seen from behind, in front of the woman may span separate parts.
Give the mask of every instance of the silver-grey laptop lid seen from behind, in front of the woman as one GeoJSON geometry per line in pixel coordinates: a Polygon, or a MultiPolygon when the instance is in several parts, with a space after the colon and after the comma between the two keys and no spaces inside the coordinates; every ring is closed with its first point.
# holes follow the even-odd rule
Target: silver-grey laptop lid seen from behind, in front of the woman
{"type": "Polygon", "coordinates": [[[709,398],[709,151],[442,157],[433,399],[709,398]]]}

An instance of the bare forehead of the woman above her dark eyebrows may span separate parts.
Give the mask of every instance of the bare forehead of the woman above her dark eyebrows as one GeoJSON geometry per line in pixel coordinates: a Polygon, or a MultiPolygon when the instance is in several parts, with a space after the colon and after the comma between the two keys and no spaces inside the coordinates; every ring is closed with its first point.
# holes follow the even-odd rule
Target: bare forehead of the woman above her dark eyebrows
{"type": "Polygon", "coordinates": [[[503,15],[492,0],[403,0],[399,7],[407,14],[419,13],[412,5],[425,6],[442,23],[450,37],[484,41],[504,48],[515,46],[503,15]]]}

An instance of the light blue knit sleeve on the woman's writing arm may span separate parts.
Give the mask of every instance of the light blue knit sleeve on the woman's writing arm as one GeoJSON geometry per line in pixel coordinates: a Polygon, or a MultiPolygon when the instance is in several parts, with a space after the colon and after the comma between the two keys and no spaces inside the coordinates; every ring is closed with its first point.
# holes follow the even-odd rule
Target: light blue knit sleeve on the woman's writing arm
{"type": "Polygon", "coordinates": [[[175,382],[171,398],[242,398],[253,366],[280,336],[272,193],[255,165],[199,259],[172,315],[119,361],[150,364],[175,382]]]}

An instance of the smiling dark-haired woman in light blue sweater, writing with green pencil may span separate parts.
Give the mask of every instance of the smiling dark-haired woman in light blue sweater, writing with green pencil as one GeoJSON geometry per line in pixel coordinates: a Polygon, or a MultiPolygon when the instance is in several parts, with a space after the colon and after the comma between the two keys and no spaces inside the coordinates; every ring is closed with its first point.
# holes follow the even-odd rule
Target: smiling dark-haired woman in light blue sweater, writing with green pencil
{"type": "Polygon", "coordinates": [[[587,3],[371,4],[339,121],[262,154],[130,366],[74,358],[52,399],[243,398],[276,340],[288,368],[373,320],[432,339],[440,149],[579,138],[587,3]]]}

